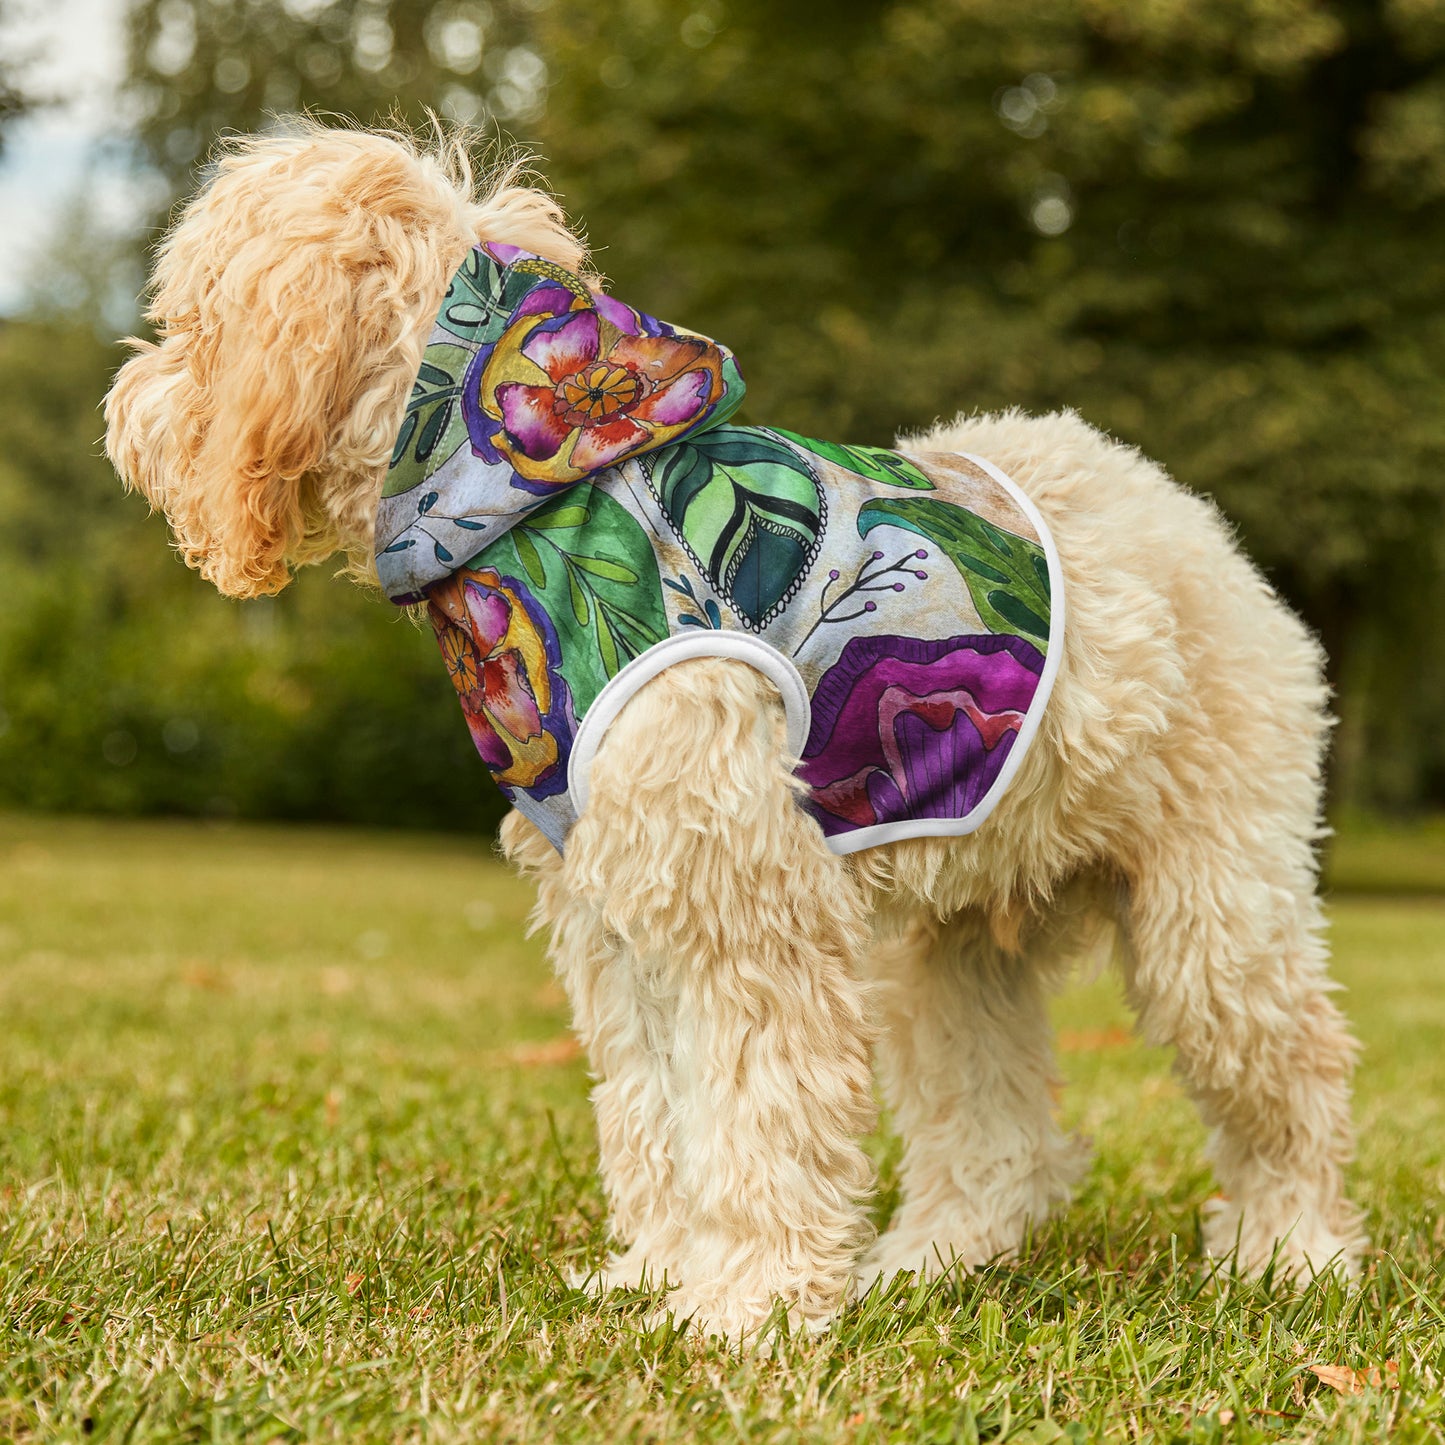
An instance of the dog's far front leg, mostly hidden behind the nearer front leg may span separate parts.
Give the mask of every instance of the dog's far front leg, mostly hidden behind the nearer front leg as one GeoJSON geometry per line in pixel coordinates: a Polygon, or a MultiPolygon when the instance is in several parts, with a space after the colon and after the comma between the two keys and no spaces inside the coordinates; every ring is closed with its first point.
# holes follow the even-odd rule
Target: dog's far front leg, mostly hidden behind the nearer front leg
{"type": "Polygon", "coordinates": [[[556,850],[520,814],[501,828],[503,850],[538,886],[536,922],[572,1006],[572,1027],[597,1082],[598,1168],[608,1233],[620,1253],[582,1279],[601,1293],[662,1285],[688,1227],[668,1147],[673,998],[665,978],[568,887],[556,850]]]}

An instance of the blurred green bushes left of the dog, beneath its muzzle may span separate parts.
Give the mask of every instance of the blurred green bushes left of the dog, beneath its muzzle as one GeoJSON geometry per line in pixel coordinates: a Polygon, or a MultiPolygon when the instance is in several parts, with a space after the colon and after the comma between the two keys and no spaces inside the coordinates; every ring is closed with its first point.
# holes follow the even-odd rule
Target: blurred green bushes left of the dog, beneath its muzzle
{"type": "Polygon", "coordinates": [[[0,806],[486,829],[429,633],[325,571],[231,603],[100,451],[114,348],[0,324],[0,806]]]}

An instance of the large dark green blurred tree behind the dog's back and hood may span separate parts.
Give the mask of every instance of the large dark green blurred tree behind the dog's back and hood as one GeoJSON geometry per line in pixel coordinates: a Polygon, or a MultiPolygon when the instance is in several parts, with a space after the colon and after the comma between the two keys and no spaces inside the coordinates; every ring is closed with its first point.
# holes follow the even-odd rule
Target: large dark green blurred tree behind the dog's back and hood
{"type": "Polygon", "coordinates": [[[1445,643],[1399,605],[1445,561],[1436,0],[633,0],[538,43],[551,178],[624,296],[734,345],[754,416],[1078,407],[1322,631],[1344,792],[1438,786],[1445,643]]]}

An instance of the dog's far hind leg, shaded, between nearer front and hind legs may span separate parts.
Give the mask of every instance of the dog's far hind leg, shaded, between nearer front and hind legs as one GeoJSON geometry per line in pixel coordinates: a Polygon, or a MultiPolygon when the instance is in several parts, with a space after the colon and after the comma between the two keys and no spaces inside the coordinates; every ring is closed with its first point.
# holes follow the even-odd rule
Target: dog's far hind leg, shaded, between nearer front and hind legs
{"type": "Polygon", "coordinates": [[[902,1202],[860,1286],[1010,1256],[1088,1153],[1053,1118],[1052,939],[1006,951],[981,913],[919,922],[873,954],[880,1075],[903,1137],[902,1202]]]}

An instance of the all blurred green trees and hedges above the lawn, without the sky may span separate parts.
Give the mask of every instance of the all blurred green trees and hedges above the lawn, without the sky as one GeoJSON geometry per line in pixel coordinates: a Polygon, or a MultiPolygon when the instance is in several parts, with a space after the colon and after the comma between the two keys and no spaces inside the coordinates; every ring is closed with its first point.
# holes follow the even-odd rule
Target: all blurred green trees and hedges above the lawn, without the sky
{"type": "Polygon", "coordinates": [[[0,803],[497,815],[429,636],[327,575],[217,598],[95,441],[166,205],[299,107],[535,147],[750,420],[1139,445],[1324,637],[1335,805],[1445,805],[1445,0],[139,0],[116,143],[163,204],[78,207],[0,322],[0,803]]]}

